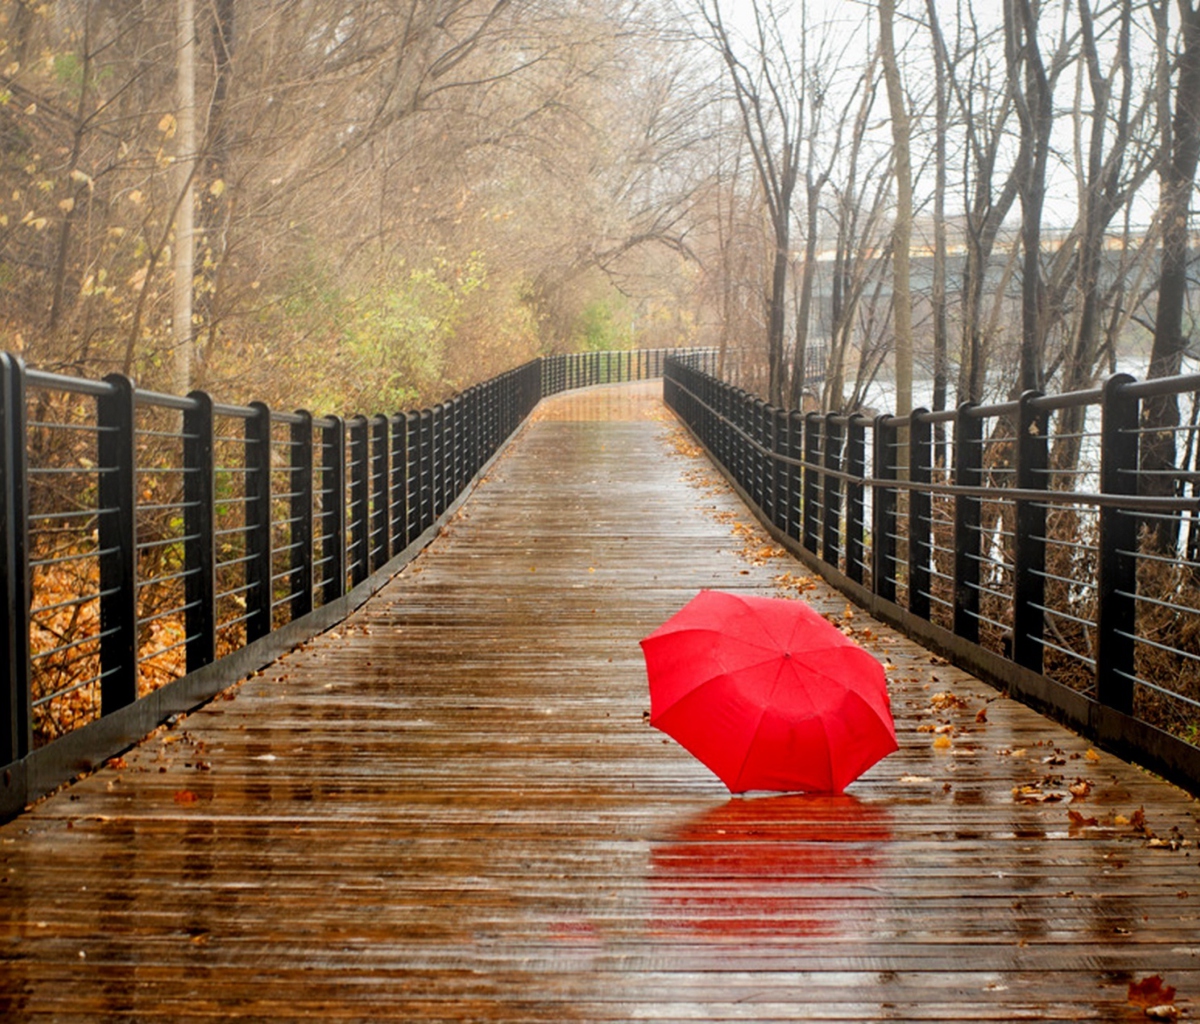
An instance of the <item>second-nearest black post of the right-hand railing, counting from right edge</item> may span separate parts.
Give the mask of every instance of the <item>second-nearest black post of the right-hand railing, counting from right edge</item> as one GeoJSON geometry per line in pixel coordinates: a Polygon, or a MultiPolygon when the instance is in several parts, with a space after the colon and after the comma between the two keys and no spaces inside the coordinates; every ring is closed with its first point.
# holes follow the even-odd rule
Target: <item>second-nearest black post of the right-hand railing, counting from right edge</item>
{"type": "MultiPolygon", "coordinates": [[[[1016,486],[1046,489],[1046,415],[1033,408],[1037,391],[1020,397],[1016,414],[1016,486]]],[[[1046,509],[1043,502],[1015,502],[1013,544],[1013,660],[1042,671],[1045,635],[1046,509]]]]}

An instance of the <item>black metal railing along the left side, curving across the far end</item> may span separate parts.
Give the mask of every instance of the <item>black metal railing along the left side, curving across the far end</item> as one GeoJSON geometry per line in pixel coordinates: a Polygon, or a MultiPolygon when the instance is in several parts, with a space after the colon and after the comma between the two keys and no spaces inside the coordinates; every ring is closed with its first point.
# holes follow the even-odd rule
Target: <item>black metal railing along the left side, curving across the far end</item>
{"type": "Polygon", "coordinates": [[[660,376],[666,355],[554,355],[343,419],[0,354],[0,815],[344,617],[544,395],[660,376]]]}

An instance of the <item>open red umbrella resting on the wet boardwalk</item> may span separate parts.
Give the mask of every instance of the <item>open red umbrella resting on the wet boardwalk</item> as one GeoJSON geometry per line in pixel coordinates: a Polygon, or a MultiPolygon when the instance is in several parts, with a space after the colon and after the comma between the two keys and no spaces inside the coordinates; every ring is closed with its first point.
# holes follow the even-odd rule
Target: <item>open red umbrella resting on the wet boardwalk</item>
{"type": "Polygon", "coordinates": [[[650,724],[731,792],[841,792],[896,749],[883,666],[804,601],[701,591],[642,652],[650,724]]]}

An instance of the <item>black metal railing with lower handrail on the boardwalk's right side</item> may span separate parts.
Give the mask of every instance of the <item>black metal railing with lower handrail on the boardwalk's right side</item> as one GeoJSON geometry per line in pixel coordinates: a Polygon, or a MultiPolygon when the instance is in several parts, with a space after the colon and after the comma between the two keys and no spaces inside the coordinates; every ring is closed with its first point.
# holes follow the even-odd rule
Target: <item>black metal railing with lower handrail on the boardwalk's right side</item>
{"type": "Polygon", "coordinates": [[[784,412],[684,361],[667,405],[772,532],[875,615],[1200,792],[1200,474],[1139,466],[1200,376],[896,418],[784,412]]]}

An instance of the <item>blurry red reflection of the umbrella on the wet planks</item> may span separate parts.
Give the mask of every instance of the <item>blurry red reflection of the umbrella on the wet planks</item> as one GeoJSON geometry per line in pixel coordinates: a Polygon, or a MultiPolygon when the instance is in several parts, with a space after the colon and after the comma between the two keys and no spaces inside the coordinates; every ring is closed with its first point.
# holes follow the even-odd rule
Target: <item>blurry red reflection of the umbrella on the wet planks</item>
{"type": "Polygon", "coordinates": [[[892,838],[884,808],[851,796],[731,800],[650,852],[653,930],[811,939],[870,915],[892,838]]]}

